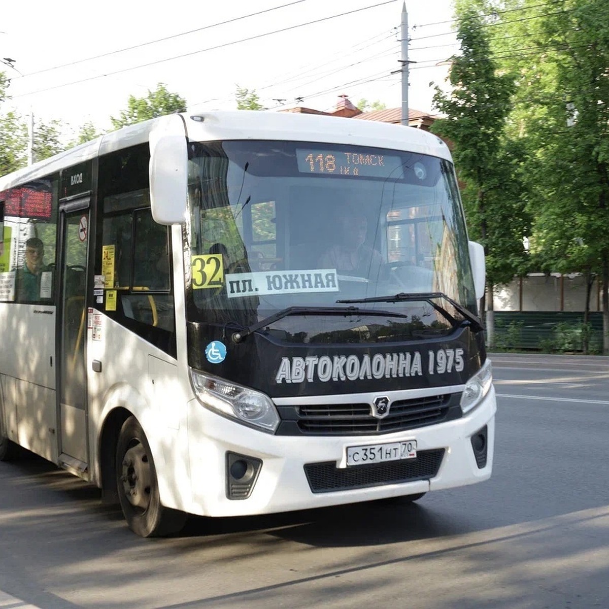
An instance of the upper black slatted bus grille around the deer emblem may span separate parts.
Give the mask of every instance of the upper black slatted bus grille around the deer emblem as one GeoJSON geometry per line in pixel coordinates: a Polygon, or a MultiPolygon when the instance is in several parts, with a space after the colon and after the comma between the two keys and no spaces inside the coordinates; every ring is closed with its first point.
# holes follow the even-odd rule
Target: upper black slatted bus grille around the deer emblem
{"type": "Polygon", "coordinates": [[[461,416],[460,393],[392,402],[389,415],[373,417],[370,404],[278,406],[279,435],[378,435],[442,423],[461,416]]]}

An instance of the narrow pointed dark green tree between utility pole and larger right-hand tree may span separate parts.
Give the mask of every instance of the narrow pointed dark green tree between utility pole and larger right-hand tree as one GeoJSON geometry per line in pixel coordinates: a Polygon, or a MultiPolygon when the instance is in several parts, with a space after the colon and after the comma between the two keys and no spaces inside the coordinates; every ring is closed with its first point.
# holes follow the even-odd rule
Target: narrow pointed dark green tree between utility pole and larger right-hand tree
{"type": "MultiPolygon", "coordinates": [[[[460,54],[452,57],[449,70],[451,92],[436,87],[434,105],[446,115],[432,127],[454,145],[454,157],[470,228],[481,242],[487,261],[488,294],[523,272],[527,262],[523,239],[529,231],[526,197],[518,174],[523,147],[505,135],[514,79],[498,72],[491,58],[487,21],[480,4],[457,6],[460,54]]],[[[492,297],[488,301],[489,342],[493,335],[492,297]]],[[[482,300],[482,312],[485,299],[482,300]]]]}

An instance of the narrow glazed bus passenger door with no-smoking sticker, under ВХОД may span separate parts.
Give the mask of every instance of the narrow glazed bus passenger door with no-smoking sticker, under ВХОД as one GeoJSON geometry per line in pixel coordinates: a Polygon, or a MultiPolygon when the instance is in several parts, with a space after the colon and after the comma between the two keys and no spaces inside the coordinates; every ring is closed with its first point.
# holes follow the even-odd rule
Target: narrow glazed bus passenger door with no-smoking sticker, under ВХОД
{"type": "Polygon", "coordinates": [[[72,473],[86,477],[89,461],[85,367],[88,197],[60,206],[60,216],[59,463],[72,473]]]}

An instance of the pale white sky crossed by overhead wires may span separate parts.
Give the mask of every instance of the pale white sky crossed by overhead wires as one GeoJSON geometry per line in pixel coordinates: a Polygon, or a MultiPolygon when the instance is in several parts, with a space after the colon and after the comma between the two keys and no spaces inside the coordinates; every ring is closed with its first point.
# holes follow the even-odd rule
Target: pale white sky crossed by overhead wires
{"type": "MultiPolygon", "coordinates": [[[[130,95],[144,97],[160,82],[192,111],[233,110],[237,86],[255,91],[270,110],[300,104],[331,111],[339,95],[400,107],[401,75],[392,72],[400,69],[403,3],[4,2],[0,58],[14,60],[14,68],[0,65],[11,79],[2,111],[58,119],[69,137],[87,121],[109,129],[130,95]]],[[[431,112],[429,83],[445,80],[445,60],[458,49],[452,4],[405,4],[415,62],[409,107],[431,112]]]]}

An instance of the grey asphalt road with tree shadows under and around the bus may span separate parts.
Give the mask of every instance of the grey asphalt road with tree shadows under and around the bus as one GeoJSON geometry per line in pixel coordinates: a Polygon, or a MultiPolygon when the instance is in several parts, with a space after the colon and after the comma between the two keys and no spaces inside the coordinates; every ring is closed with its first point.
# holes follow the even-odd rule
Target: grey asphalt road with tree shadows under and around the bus
{"type": "Polygon", "coordinates": [[[492,359],[493,477],[419,504],[143,540],[96,488],[0,463],[0,608],[609,608],[609,358],[492,359]]]}

